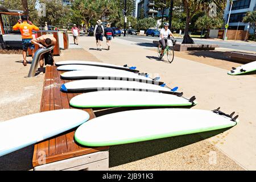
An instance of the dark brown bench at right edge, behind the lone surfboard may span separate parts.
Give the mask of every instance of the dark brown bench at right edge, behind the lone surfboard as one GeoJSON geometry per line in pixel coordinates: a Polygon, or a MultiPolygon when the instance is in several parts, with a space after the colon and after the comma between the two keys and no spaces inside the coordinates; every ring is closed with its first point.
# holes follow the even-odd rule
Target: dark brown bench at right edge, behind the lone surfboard
{"type": "Polygon", "coordinates": [[[256,61],[256,53],[246,53],[246,52],[225,52],[226,56],[230,56],[230,59],[235,61],[240,61],[243,63],[250,63],[252,61],[256,61]]]}

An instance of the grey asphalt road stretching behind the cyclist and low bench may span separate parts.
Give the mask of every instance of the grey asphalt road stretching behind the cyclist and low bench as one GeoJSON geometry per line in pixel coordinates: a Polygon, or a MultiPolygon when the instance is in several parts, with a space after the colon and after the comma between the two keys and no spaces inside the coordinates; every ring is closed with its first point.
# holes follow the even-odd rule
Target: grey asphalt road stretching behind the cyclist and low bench
{"type": "MultiPolygon", "coordinates": [[[[137,43],[152,43],[153,40],[158,40],[158,37],[152,36],[137,36],[137,35],[129,35],[118,37],[120,39],[129,40],[131,42],[137,43]]],[[[183,39],[176,39],[177,42],[182,42],[183,39]]],[[[243,51],[255,51],[256,52],[256,43],[250,42],[234,42],[234,41],[221,41],[221,40],[204,40],[204,39],[193,39],[196,44],[218,44],[219,47],[228,48],[228,49],[240,49],[243,51]]]]}

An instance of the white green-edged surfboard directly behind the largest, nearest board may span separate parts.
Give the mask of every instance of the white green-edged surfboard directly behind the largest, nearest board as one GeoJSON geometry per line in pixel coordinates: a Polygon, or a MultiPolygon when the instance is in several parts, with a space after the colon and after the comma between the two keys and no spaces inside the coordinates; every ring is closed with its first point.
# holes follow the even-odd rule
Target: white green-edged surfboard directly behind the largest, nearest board
{"type": "MultiPolygon", "coordinates": [[[[195,97],[193,97],[195,98],[195,97]]],[[[73,97],[72,107],[141,107],[141,106],[192,106],[197,102],[172,94],[127,90],[98,91],[73,97]],[[97,98],[97,99],[95,99],[97,98]]]]}

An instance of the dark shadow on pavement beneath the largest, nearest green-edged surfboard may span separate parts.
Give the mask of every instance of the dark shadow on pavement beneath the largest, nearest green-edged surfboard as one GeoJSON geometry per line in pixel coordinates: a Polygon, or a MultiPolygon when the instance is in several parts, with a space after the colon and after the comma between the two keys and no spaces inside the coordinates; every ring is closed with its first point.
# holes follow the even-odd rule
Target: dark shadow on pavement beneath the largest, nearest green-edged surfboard
{"type": "Polygon", "coordinates": [[[110,146],[109,167],[119,166],[148,158],[150,156],[162,154],[164,152],[172,151],[176,148],[188,146],[189,144],[200,142],[206,138],[223,133],[226,130],[228,129],[216,130],[214,132],[204,132],[204,138],[201,137],[199,133],[110,146]]]}

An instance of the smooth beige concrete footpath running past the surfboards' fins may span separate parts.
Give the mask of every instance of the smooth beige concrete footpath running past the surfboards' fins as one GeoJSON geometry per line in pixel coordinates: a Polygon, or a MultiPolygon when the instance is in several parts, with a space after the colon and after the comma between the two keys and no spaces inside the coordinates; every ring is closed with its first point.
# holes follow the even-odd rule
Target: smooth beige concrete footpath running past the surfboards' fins
{"type": "MultiPolygon", "coordinates": [[[[80,46],[98,60],[118,65],[135,65],[141,72],[160,75],[169,86],[179,86],[184,96],[196,96],[193,109],[222,111],[240,115],[232,129],[207,139],[246,169],[256,169],[256,78],[250,75],[229,76],[228,70],[175,57],[172,64],[156,59],[156,52],[135,42],[114,39],[110,50],[96,51],[93,37],[81,37],[80,46]]],[[[106,43],[104,39],[104,46],[106,43]]],[[[207,59],[207,58],[206,58],[207,59]]],[[[86,58],[85,58],[86,60],[86,58]]],[[[200,134],[208,138],[209,133],[200,134]]],[[[170,153],[171,154],[171,153],[170,153]]],[[[195,168],[193,168],[195,169],[195,168]]]]}

